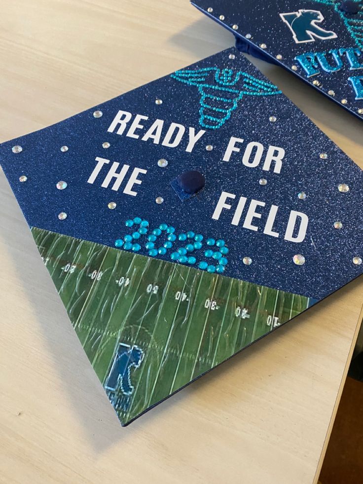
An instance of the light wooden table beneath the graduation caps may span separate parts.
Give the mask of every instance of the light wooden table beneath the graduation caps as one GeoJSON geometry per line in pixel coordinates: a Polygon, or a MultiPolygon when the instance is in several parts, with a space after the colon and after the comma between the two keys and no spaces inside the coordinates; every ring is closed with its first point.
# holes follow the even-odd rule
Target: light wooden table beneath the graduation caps
{"type": "MultiPolygon", "coordinates": [[[[187,0],[0,7],[1,141],[233,42],[187,0]]],[[[257,64],[363,166],[363,123],[257,64]]],[[[121,428],[1,174],[0,482],[316,482],[362,301],[361,278],[121,428]]]]}

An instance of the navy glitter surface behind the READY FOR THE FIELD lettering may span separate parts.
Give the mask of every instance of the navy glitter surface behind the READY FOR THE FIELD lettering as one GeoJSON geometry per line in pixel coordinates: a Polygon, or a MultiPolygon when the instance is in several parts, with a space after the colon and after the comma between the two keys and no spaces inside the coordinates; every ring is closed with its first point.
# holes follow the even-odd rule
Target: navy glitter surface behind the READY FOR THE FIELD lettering
{"type": "MultiPolygon", "coordinates": [[[[248,72],[265,80],[234,48],[188,69],[210,67],[248,72]]],[[[155,244],[154,235],[143,235],[143,243],[138,240],[134,248],[131,242],[123,247],[119,242],[120,250],[127,244],[127,250],[140,250],[144,255],[176,263],[183,257],[187,263],[194,253],[181,256],[178,249],[195,242],[190,239],[191,234],[203,234],[203,248],[212,252],[207,265],[198,262],[203,270],[222,270],[224,258],[216,260],[213,254],[218,247],[222,252],[224,245],[218,241],[224,240],[228,264],[223,275],[314,299],[324,298],[363,272],[363,264],[353,264],[353,257],[363,257],[363,214],[359,209],[363,200],[362,170],[285,96],[246,96],[220,128],[205,130],[192,152],[185,151],[188,129],[177,148],[142,141],[142,134],[155,119],[165,120],[163,136],[171,122],[194,127],[198,132],[202,129],[198,90],[167,75],[65,121],[2,144],[1,165],[28,224],[114,247],[115,240],[121,240],[127,231],[138,231],[141,225],[135,220],[145,221],[144,224],[147,221],[148,233],[156,235],[161,233],[160,224],[166,223],[170,228],[166,233],[175,231],[177,235],[172,251],[159,253],[162,244],[155,244]],[[156,104],[156,99],[161,99],[162,104],[156,104]],[[102,117],[93,116],[96,109],[103,112],[102,117]],[[123,135],[108,132],[118,110],[148,116],[139,139],[126,137],[127,130],[123,135]],[[271,116],[276,117],[275,122],[269,120],[271,116]],[[239,145],[241,152],[232,153],[229,162],[222,161],[231,136],[245,142],[239,145]],[[110,144],[108,149],[102,147],[104,142],[110,144]],[[254,168],[244,165],[242,156],[249,142],[261,143],[264,153],[269,145],[283,147],[286,155],[281,173],[262,170],[262,163],[254,168]],[[23,151],[13,153],[14,145],[20,145],[23,151]],[[206,150],[207,145],[214,149],[206,150]],[[61,146],[68,146],[68,151],[62,152],[61,146]],[[327,159],[321,159],[322,152],[327,153],[327,159]],[[96,156],[107,158],[110,163],[90,184],[87,180],[96,166],[96,156]],[[157,164],[161,158],[168,160],[164,168],[157,164]],[[118,191],[111,189],[112,183],[108,188],[101,186],[113,161],[120,162],[120,167],[124,163],[130,165],[128,175],[134,167],[147,170],[140,177],[142,184],[135,186],[137,196],[122,192],[126,181],[118,191]],[[187,170],[203,173],[206,185],[199,194],[182,202],[170,183],[187,170]],[[25,183],[19,182],[21,175],[28,177],[25,183]],[[260,185],[260,178],[266,179],[267,184],[260,185]],[[56,188],[60,180],[67,182],[66,189],[56,188]],[[340,192],[340,183],[348,184],[350,190],[340,192]],[[257,231],[242,227],[247,205],[238,226],[231,224],[234,210],[223,210],[218,221],[212,219],[222,191],[236,195],[235,200],[230,200],[233,209],[240,196],[247,197],[247,203],[251,199],[265,203],[258,210],[261,219],[254,219],[257,231]],[[297,197],[301,191],[307,194],[305,200],[297,197]],[[159,196],[164,203],[155,203],[159,196]],[[111,201],[117,204],[113,210],[108,208],[111,201]],[[272,204],[279,207],[273,227],[280,232],[278,238],[263,233],[272,204]],[[284,240],[290,210],[309,217],[307,234],[301,243],[284,240]],[[65,220],[58,219],[60,212],[67,213],[65,220]],[[125,221],[130,228],[125,227],[125,221]],[[342,229],[334,229],[336,221],[342,222],[342,229]],[[144,248],[147,240],[154,243],[148,252],[144,248]],[[304,265],[293,263],[295,254],[305,257],[304,265]],[[245,265],[244,257],[251,257],[252,264],[245,265]]],[[[189,263],[192,262],[193,259],[189,263]]]]}

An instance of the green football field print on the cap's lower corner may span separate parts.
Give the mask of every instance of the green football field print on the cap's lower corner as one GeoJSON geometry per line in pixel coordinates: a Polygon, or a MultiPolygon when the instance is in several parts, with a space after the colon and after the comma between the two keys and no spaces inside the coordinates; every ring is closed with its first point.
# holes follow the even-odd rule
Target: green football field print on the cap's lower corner
{"type": "Polygon", "coordinates": [[[116,409],[122,424],[309,305],[303,296],[181,264],[35,227],[32,233],[102,384],[119,343],[144,352],[131,369],[129,407],[116,409]]]}

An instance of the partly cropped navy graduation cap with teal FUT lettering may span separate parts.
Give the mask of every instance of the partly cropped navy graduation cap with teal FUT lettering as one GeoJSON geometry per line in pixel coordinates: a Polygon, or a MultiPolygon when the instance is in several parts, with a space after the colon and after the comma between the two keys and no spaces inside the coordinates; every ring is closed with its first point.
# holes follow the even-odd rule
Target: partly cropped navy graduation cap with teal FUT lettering
{"type": "Polygon", "coordinates": [[[362,119],[363,1],[192,3],[233,32],[240,50],[285,67],[362,119]]]}

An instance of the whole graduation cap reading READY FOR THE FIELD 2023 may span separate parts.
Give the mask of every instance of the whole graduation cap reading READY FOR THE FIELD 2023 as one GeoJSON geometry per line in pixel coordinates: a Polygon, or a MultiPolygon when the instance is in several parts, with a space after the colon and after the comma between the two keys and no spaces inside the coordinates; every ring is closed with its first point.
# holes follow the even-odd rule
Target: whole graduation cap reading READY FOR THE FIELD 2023
{"type": "Polygon", "coordinates": [[[362,170],[235,48],[0,157],[123,425],[362,273],[362,170]]]}

